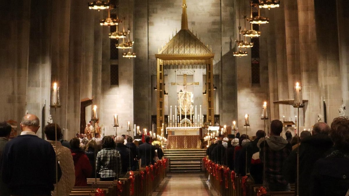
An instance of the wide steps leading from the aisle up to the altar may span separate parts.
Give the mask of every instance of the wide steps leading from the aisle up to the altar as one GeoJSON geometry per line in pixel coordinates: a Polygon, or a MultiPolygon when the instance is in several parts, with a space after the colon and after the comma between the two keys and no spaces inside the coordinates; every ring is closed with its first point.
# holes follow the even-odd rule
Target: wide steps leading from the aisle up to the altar
{"type": "Polygon", "coordinates": [[[165,149],[164,156],[170,160],[170,172],[201,172],[206,149],[165,149]]]}

